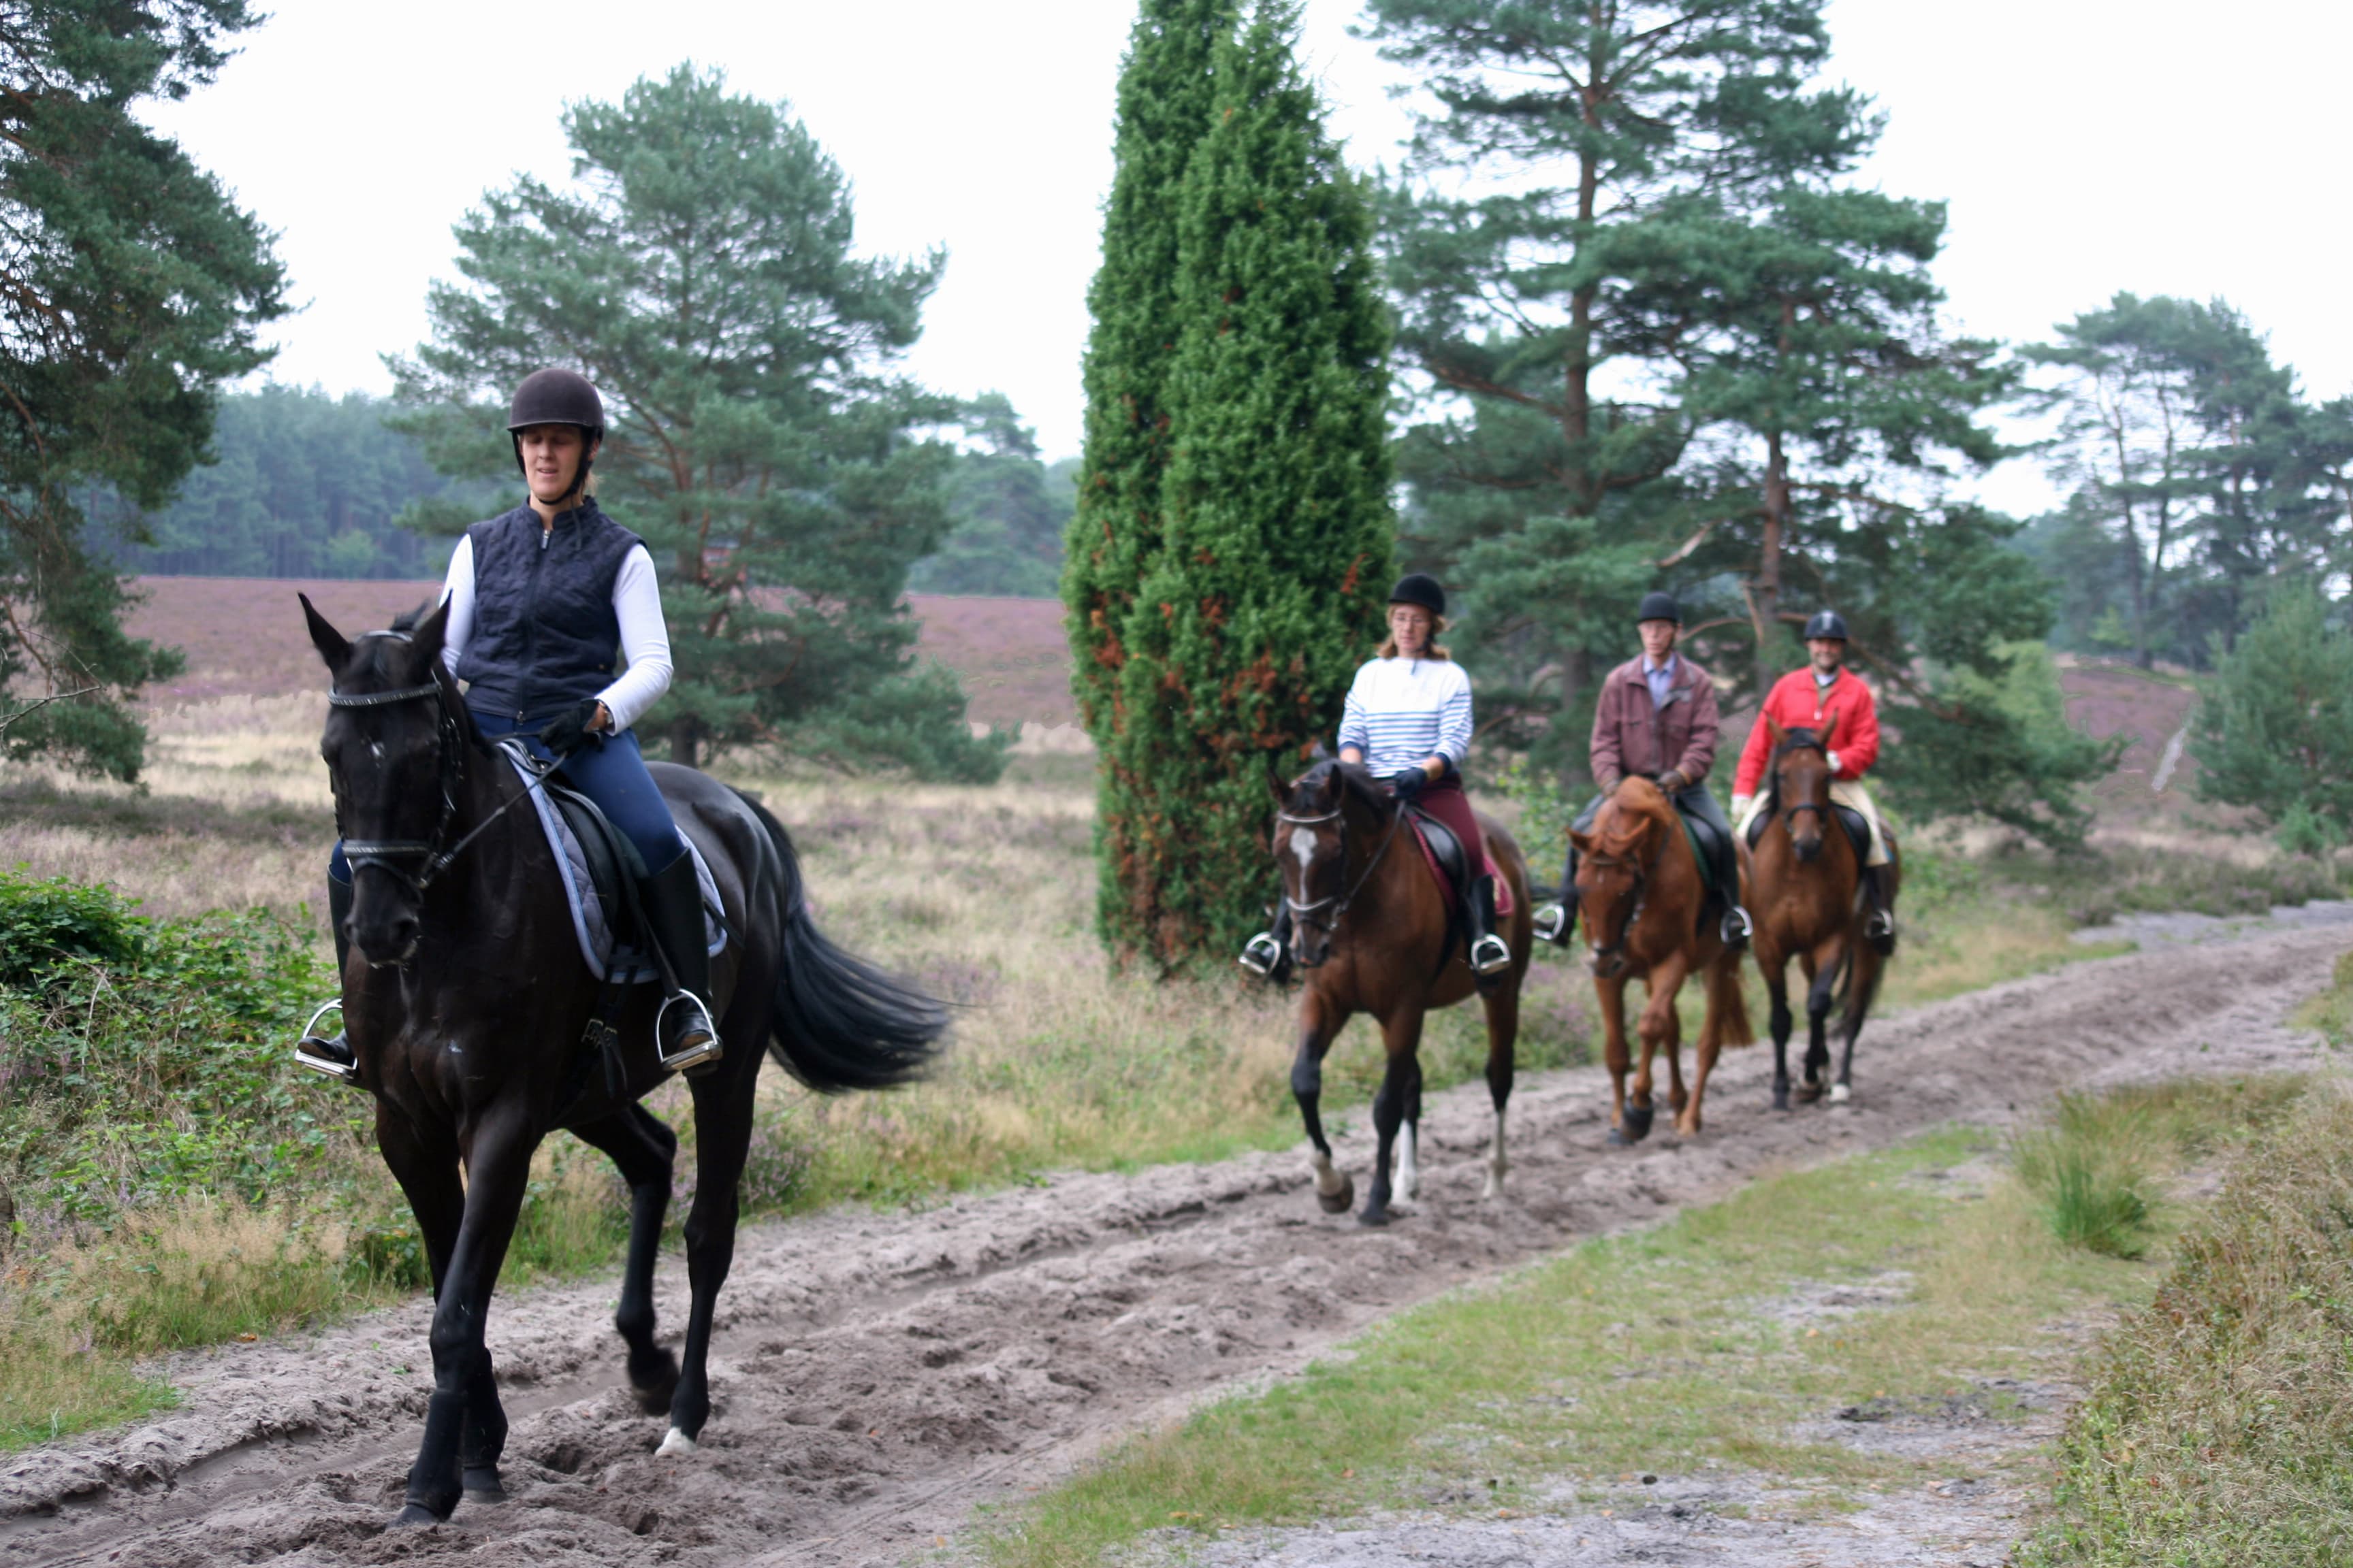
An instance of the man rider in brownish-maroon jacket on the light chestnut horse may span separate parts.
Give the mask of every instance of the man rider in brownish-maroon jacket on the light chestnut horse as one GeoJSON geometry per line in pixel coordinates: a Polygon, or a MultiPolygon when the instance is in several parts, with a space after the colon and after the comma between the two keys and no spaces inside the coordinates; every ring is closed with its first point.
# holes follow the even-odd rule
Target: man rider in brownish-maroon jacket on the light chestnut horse
{"type": "MultiPolygon", "coordinates": [[[[1682,609],[1673,595],[1642,595],[1635,611],[1635,630],[1642,635],[1642,656],[1628,658],[1602,682],[1600,705],[1593,710],[1593,783],[1600,788],[1586,809],[1577,813],[1574,832],[1588,832],[1602,802],[1617,792],[1621,778],[1649,778],[1675,802],[1675,809],[1706,827],[1701,842],[1715,870],[1715,900],[1722,910],[1725,947],[1748,940],[1748,912],[1741,907],[1739,851],[1732,842],[1732,823],[1725,809],[1708,795],[1708,769],[1715,766],[1715,733],[1722,722],[1715,715],[1715,679],[1694,665],[1689,656],[1675,651],[1682,635],[1682,609]]],[[[1569,863],[1560,875],[1560,903],[1537,910],[1537,936],[1558,945],[1569,945],[1577,929],[1577,846],[1569,846],[1569,863]]]]}

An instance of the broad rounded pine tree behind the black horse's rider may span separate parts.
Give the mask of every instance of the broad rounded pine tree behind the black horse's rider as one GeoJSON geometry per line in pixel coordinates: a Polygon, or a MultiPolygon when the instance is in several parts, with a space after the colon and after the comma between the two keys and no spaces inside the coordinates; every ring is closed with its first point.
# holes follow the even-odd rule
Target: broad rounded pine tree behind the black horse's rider
{"type": "MultiPolygon", "coordinates": [[[[915,663],[908,569],[948,534],[955,404],[894,378],[941,256],[854,254],[849,181],[784,106],[680,66],[565,110],[576,183],[520,179],[459,223],[468,287],[395,362],[449,473],[513,475],[506,393],[574,364],[607,400],[602,501],[661,571],[671,757],[774,743],[995,778],[955,675],[915,663]]],[[[438,522],[438,520],[433,520],[438,522]]]]}

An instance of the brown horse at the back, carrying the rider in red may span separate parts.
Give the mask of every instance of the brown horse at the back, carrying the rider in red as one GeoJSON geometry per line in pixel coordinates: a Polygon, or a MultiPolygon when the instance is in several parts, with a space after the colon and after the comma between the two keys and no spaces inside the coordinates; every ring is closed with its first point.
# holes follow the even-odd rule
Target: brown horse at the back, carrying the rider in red
{"type": "MultiPolygon", "coordinates": [[[[1788,1110],[1788,961],[1805,971],[1805,1084],[1798,1100],[1821,1098],[1821,1070],[1831,1065],[1826,1041],[1831,1011],[1840,1011],[1842,1051],[1831,1103],[1845,1103],[1854,1091],[1854,1037],[1864,1032],[1871,1001],[1880,994],[1887,959],[1864,940],[1866,910],[1857,896],[1864,860],[1845,827],[1831,823],[1831,736],[1838,715],[1817,733],[1781,729],[1769,717],[1772,764],[1765,769],[1765,799],[1758,813],[1765,830],[1748,849],[1741,825],[1741,863],[1748,865],[1751,914],[1755,917],[1758,969],[1772,994],[1772,1105],[1788,1110]]],[[[1882,825],[1885,832],[1885,825],[1882,825]]],[[[1887,835],[1894,851],[1894,835],[1887,835]]],[[[1894,905],[1899,867],[1887,867],[1887,903],[1894,905]]]]}

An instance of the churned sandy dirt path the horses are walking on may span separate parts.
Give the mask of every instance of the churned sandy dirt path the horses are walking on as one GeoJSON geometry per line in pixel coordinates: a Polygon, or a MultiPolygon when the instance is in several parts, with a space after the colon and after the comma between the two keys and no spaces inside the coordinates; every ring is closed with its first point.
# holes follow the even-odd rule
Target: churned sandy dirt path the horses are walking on
{"type": "MultiPolygon", "coordinates": [[[[52,1563],[896,1563],[1205,1392],[1301,1366],[1377,1316],[1741,1180],[2049,1091],[2308,1060],[2285,1030],[2344,929],[2165,950],[1873,1025],[1857,1100],[1774,1114],[1769,1048],[1729,1053],[1704,1138],[1609,1150],[1598,1070],[1525,1079],[1511,1197],[1480,1201],[1485,1086],[1433,1095],[1424,1194],[1388,1229],[1327,1218],[1297,1152],[1064,1175],[920,1213],[744,1234],[720,1300],[718,1410],[692,1460],[621,1392],[612,1281],[492,1314],[513,1434],[499,1507],[384,1530],[428,1385],[414,1302],[176,1359],[181,1410],[0,1460],[0,1568],[52,1563]]],[[[1358,1025],[1362,1027],[1362,1025],[1358,1025]]],[[[1372,1048],[1351,1034],[1341,1048],[1372,1048]]],[[[1346,1164],[1369,1135],[1348,1119],[1346,1164]]],[[[1664,1126],[1664,1119],[1661,1119],[1664,1126]]],[[[685,1269],[664,1267],[675,1331],[685,1269]]]]}

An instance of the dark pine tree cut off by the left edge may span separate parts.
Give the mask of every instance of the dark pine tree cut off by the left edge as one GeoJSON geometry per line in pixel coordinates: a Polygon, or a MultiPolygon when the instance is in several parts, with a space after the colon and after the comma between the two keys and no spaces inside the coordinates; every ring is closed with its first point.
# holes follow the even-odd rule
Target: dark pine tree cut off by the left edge
{"type": "Polygon", "coordinates": [[[136,778],[146,731],[127,698],[179,668],[125,637],[129,595],[89,550],[80,498],[165,505],[207,456],[221,381],[271,357],[256,327],[285,310],[285,273],[266,230],[139,118],[144,99],[209,82],[254,21],[242,0],[52,0],[0,26],[0,733],[14,757],[136,778]]]}

